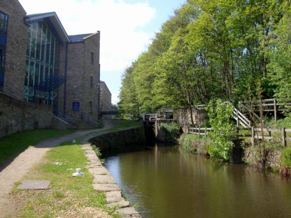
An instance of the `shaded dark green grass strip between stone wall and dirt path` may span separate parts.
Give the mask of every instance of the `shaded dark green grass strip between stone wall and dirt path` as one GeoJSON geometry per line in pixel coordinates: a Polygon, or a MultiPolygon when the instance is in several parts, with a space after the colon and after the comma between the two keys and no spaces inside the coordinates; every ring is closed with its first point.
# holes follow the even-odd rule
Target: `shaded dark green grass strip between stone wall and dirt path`
{"type": "Polygon", "coordinates": [[[10,158],[17,156],[29,146],[36,145],[41,140],[60,137],[76,130],[37,129],[17,132],[0,139],[0,166],[10,158]]]}

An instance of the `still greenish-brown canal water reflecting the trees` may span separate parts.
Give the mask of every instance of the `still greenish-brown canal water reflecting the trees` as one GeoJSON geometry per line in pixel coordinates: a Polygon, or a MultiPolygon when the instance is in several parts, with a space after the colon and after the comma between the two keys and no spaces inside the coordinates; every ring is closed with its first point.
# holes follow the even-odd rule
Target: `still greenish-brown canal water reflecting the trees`
{"type": "Polygon", "coordinates": [[[178,146],[107,157],[105,167],[144,218],[291,218],[291,179],[178,146]]]}

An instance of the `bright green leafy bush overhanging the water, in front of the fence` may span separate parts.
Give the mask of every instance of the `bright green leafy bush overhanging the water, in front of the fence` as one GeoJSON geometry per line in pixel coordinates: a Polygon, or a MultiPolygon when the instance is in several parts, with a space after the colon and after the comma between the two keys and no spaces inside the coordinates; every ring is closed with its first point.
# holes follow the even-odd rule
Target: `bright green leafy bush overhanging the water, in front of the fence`
{"type": "Polygon", "coordinates": [[[229,160],[230,150],[233,147],[231,135],[233,126],[230,116],[233,106],[225,103],[221,99],[210,101],[208,115],[212,131],[208,133],[211,140],[208,153],[210,157],[229,160]]]}

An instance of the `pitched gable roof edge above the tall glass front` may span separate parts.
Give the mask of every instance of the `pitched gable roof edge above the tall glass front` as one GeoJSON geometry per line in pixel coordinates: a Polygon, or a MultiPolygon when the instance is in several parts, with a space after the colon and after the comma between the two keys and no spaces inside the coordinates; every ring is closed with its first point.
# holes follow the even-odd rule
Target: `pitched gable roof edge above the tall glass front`
{"type": "Polygon", "coordinates": [[[37,21],[41,21],[43,19],[49,19],[51,25],[53,26],[53,31],[59,36],[59,38],[63,42],[70,42],[68,34],[65,31],[59,17],[55,12],[41,13],[41,14],[33,14],[27,15],[24,17],[24,21],[29,24],[37,21]]]}

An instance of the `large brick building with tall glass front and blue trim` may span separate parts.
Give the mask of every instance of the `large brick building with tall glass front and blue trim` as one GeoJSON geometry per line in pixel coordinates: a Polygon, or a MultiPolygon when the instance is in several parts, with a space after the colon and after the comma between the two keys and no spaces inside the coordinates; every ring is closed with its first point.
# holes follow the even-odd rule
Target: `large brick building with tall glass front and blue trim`
{"type": "Polygon", "coordinates": [[[26,15],[18,0],[0,0],[0,96],[48,105],[64,122],[95,125],[99,42],[99,31],[67,35],[55,12],[26,15]]]}

